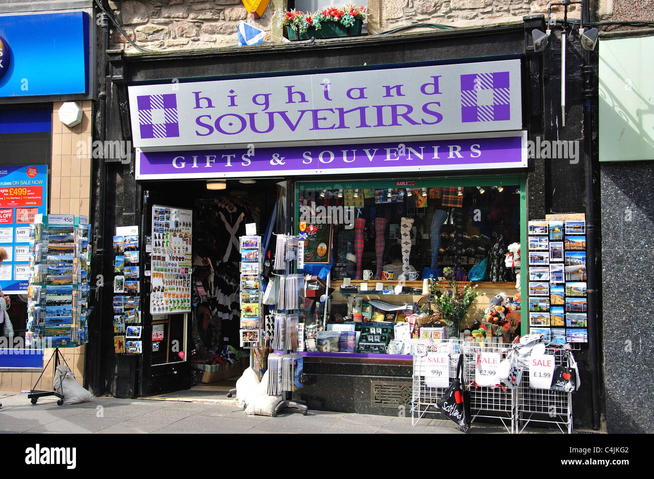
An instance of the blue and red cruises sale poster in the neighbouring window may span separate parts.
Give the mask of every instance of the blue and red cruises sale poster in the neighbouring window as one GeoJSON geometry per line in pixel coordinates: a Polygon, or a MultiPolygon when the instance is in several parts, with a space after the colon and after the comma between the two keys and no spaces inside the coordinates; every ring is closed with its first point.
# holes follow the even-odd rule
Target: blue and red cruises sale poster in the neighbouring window
{"type": "Polygon", "coordinates": [[[0,167],[0,247],[7,259],[0,265],[0,286],[5,294],[27,291],[29,279],[29,225],[46,214],[48,165],[0,167]]]}

